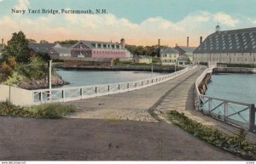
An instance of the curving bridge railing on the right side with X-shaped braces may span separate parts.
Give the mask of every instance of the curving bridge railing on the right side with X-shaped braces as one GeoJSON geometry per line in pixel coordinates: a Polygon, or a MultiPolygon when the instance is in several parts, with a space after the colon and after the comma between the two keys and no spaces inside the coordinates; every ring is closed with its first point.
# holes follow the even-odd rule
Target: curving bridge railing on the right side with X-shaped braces
{"type": "Polygon", "coordinates": [[[256,130],[255,106],[227,99],[212,98],[202,95],[198,86],[203,81],[207,73],[212,69],[207,68],[195,82],[195,108],[201,110],[206,115],[213,116],[216,119],[245,128],[252,132],[256,130]]]}

